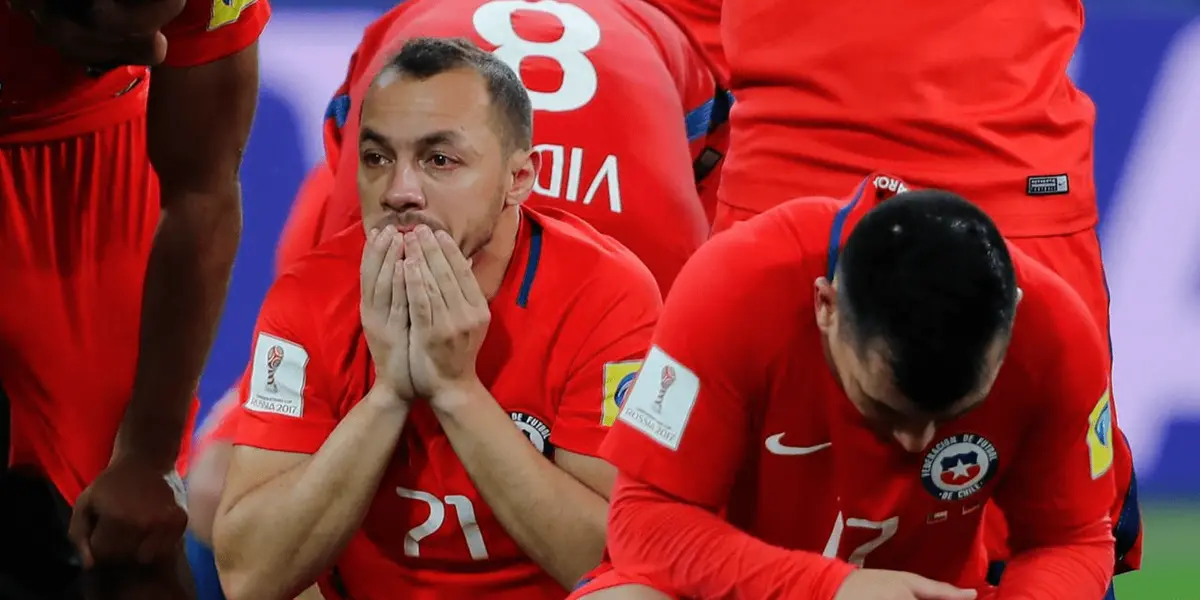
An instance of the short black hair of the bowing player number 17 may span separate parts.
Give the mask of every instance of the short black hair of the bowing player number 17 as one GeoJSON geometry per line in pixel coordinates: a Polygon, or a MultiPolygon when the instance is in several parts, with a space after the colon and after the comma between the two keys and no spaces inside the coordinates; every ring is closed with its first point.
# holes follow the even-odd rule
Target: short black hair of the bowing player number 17
{"type": "Polygon", "coordinates": [[[854,227],[838,268],[838,311],[862,355],[889,361],[896,389],[936,414],[978,389],[1010,335],[1013,258],[996,223],[950,192],[904,192],[854,227]]]}

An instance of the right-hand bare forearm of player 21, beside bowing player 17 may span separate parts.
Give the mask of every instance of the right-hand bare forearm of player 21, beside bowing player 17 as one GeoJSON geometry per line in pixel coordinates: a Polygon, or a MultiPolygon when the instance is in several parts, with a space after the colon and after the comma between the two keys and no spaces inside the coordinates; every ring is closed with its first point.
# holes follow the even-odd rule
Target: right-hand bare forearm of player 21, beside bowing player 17
{"type": "Polygon", "coordinates": [[[480,388],[439,410],[450,444],[505,532],[564,588],[600,563],[607,503],[546,460],[480,388]]]}

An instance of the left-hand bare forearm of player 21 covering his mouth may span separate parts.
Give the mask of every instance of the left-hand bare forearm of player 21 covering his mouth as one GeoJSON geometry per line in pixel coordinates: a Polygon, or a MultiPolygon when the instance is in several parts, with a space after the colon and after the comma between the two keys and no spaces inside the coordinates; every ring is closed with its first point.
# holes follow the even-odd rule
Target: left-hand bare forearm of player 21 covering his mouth
{"type": "Polygon", "coordinates": [[[290,598],[344,550],[408,418],[388,394],[368,392],[301,467],[222,500],[214,541],[230,600],[290,598]]]}

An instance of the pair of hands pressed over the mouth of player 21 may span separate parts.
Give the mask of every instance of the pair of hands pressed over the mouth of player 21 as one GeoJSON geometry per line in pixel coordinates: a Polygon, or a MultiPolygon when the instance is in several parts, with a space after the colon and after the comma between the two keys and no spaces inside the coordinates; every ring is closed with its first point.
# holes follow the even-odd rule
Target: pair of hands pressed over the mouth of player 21
{"type": "Polygon", "coordinates": [[[470,262],[445,232],[372,230],[362,251],[362,331],[376,385],[432,403],[478,385],[475,358],[491,311],[470,262]]]}

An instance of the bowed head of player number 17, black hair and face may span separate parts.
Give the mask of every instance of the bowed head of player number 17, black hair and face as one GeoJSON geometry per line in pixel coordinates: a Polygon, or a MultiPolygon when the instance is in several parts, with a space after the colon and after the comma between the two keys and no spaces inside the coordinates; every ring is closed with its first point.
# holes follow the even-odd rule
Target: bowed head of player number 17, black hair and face
{"type": "Polygon", "coordinates": [[[905,450],[988,396],[1020,299],[1012,257],[982,210],[942,191],[896,194],[854,227],[817,326],[846,396],[905,450]]]}

